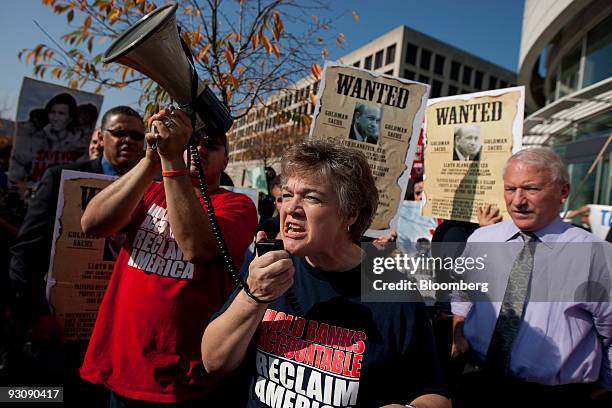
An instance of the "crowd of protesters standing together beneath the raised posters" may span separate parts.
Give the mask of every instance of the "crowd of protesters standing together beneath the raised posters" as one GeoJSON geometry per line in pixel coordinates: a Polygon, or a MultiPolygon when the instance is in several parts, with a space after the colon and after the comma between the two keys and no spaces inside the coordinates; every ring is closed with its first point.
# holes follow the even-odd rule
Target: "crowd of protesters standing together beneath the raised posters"
{"type": "MultiPolygon", "coordinates": [[[[520,244],[495,265],[503,298],[439,293],[425,306],[361,300],[359,243],[378,206],[361,153],[326,141],[289,148],[280,175],[266,169],[258,223],[251,199],[221,187],[231,183],[225,135],[197,136],[212,208],[185,153],[192,126],[180,110],[161,110],[145,129],[133,109],[109,109],[84,156],[47,169],[27,204],[6,180],[2,150],[0,385],[61,385],[66,402],[111,407],[610,406],[609,299],[534,302],[525,286],[542,267],[532,243],[607,245],[560,218],[570,186],[552,151],[506,163],[510,219],[487,205],[479,225],[436,221],[434,255],[456,258],[471,242],[520,244]],[[45,296],[63,169],[118,176],[81,220],[88,234],[124,237],[88,341],[63,340],[45,296]],[[265,238],[284,250],[248,250],[265,238]],[[435,245],[445,242],[463,245],[435,245]],[[244,261],[242,278],[230,276],[227,256],[237,269],[244,261]]],[[[412,180],[405,198],[422,195],[423,180],[412,180]]],[[[374,244],[396,241],[399,228],[374,244]]],[[[602,258],[591,255],[591,272],[609,283],[602,258]]]]}

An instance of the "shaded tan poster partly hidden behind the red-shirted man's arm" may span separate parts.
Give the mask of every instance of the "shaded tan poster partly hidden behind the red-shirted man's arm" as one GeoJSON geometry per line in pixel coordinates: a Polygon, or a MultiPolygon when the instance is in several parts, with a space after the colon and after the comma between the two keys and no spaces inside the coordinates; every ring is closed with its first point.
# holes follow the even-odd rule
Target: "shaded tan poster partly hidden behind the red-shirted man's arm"
{"type": "Polygon", "coordinates": [[[47,299],[67,340],[89,339],[113,271],[120,238],[85,234],[81,216],[89,201],[114,179],[101,174],[62,172],[47,299]]]}

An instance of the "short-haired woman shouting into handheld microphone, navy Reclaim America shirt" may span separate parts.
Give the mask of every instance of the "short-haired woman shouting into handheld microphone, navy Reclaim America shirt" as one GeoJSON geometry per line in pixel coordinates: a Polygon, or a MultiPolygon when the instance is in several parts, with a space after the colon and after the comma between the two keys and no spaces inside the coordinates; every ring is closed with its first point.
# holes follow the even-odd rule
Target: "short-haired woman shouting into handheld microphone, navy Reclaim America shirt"
{"type": "Polygon", "coordinates": [[[246,370],[248,407],[450,407],[423,304],[361,302],[356,242],[378,205],[363,154],[295,145],[282,191],[285,250],[255,258],[253,296],[237,290],[206,328],[206,370],[246,370]]]}

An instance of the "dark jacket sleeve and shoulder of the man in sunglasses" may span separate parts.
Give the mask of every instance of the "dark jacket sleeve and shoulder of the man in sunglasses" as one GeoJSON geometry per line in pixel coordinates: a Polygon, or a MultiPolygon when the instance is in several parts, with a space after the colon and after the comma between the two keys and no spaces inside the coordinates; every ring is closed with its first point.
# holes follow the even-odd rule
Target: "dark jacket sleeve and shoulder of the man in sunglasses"
{"type": "Polygon", "coordinates": [[[62,170],[102,174],[102,159],[47,169],[30,201],[15,244],[11,247],[9,277],[30,317],[48,313],[44,277],[49,269],[55,212],[62,170]]]}

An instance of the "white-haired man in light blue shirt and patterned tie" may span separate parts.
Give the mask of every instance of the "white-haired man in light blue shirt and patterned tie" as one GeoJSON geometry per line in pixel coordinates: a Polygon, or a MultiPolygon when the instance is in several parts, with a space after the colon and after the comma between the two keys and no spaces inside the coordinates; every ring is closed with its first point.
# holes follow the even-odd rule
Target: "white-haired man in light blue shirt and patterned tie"
{"type": "Polygon", "coordinates": [[[559,217],[569,175],[550,149],[514,154],[503,179],[511,220],[476,230],[463,254],[495,258],[481,273],[499,296],[452,303],[452,354],[483,368],[462,376],[453,405],[610,406],[612,247],[559,217]],[[501,256],[475,244],[489,242],[505,243],[501,256]]]}

